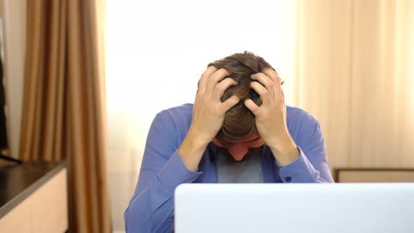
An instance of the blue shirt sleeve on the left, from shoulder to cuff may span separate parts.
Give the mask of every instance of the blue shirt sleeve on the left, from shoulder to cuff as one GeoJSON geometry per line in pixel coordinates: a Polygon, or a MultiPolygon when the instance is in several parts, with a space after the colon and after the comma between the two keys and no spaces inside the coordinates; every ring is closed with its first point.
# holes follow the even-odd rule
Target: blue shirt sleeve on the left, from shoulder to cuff
{"type": "Polygon", "coordinates": [[[149,128],[138,184],[124,213],[127,233],[173,232],[175,187],[201,175],[185,167],[179,144],[171,114],[157,114],[149,128]]]}

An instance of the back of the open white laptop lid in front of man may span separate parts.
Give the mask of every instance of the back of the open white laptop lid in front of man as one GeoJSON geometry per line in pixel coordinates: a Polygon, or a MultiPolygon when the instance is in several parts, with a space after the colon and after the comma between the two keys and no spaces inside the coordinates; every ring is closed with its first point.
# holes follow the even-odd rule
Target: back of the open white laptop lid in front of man
{"type": "Polygon", "coordinates": [[[175,232],[414,232],[414,183],[183,184],[175,232]]]}

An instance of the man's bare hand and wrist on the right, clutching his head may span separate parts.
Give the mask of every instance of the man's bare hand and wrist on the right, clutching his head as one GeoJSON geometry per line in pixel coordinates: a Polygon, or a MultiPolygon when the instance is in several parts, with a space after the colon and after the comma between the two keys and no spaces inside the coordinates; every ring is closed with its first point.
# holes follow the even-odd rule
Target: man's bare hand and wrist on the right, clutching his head
{"type": "Polygon", "coordinates": [[[273,69],[265,68],[253,74],[251,88],[262,100],[259,107],[253,100],[244,104],[255,114],[255,123],[262,140],[269,146],[281,166],[291,164],[299,157],[298,147],[293,142],[286,124],[286,104],[281,79],[273,69]]]}

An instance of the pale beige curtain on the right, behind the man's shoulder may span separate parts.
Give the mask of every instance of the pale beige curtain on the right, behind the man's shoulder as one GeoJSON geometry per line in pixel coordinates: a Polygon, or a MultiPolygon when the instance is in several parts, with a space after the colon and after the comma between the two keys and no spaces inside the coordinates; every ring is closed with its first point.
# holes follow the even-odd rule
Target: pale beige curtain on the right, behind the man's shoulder
{"type": "Polygon", "coordinates": [[[295,104],[334,167],[414,167],[414,1],[298,0],[295,104]]]}

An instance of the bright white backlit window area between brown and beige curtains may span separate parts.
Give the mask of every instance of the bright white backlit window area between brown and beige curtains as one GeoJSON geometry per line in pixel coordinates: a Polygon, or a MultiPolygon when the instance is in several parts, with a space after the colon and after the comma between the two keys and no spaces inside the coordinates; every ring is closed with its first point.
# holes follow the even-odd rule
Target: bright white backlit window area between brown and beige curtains
{"type": "Polygon", "coordinates": [[[292,102],[294,12],[295,1],[107,1],[115,230],[123,230],[123,211],[135,189],[152,119],[162,109],[194,102],[208,63],[245,50],[261,55],[286,79],[283,90],[292,102]]]}

